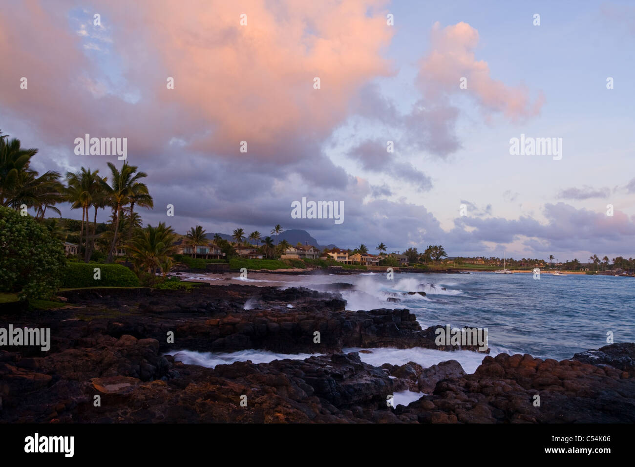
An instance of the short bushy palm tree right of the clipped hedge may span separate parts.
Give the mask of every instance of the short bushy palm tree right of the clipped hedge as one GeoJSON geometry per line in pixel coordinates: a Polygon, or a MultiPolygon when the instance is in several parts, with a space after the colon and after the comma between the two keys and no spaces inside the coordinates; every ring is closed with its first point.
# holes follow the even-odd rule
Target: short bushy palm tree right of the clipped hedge
{"type": "Polygon", "coordinates": [[[156,227],[147,226],[145,229],[137,229],[132,240],[126,247],[130,253],[138,271],[152,274],[150,281],[154,281],[154,272],[161,264],[166,265],[170,255],[176,251],[175,240],[177,235],[172,227],[166,227],[159,222],[156,227]]]}

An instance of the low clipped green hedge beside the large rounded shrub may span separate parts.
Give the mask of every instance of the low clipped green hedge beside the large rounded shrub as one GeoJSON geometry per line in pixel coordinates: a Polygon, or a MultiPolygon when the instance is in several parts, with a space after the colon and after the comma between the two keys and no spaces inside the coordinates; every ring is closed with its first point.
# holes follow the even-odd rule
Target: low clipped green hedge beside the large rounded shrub
{"type": "Polygon", "coordinates": [[[121,264],[98,264],[70,262],[62,273],[62,287],[138,287],[135,273],[121,264]],[[95,276],[95,267],[100,268],[100,279],[95,276]]]}

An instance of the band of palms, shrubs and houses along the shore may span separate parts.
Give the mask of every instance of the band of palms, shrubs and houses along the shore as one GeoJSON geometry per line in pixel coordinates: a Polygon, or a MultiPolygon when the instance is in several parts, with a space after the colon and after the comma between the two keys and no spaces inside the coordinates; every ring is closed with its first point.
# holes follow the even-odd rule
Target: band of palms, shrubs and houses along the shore
{"type": "MultiPolygon", "coordinates": [[[[40,175],[30,167],[37,152],[0,132],[0,245],[7,252],[0,259],[0,292],[15,293],[25,301],[55,301],[58,290],[69,287],[190,287],[168,276],[177,271],[355,273],[392,268],[466,273],[502,266],[495,257],[448,257],[441,245],[428,245],[423,252],[411,247],[403,254],[388,253],[384,243],[375,248],[377,254],[370,254],[364,244],[346,250],[291,245],[278,241],[284,232],[280,224],[264,238],[258,231],[234,229],[231,241],[219,234],[208,238],[203,226],[185,234],[164,222],[144,227],[139,209],[154,208],[144,182],[147,173],[124,162],[121,168],[108,163],[107,174],[81,167],[64,179],[55,171],[40,175]],[[60,215],[60,203],[81,210],[81,220],[46,217],[47,212],[60,215]],[[99,210],[110,210],[108,222],[97,222],[99,210]]],[[[518,273],[538,267],[542,273],[632,276],[635,260],[616,257],[610,263],[606,256],[592,255],[587,264],[577,259],[561,263],[550,255],[548,261],[506,258],[505,266],[518,273]]]]}

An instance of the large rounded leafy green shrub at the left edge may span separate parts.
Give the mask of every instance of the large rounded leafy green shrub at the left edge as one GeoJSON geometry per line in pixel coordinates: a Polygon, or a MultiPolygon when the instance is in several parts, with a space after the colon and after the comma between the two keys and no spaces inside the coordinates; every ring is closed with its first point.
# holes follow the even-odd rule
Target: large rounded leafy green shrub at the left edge
{"type": "Polygon", "coordinates": [[[0,291],[46,299],[60,287],[62,242],[30,215],[0,206],[0,291]]]}

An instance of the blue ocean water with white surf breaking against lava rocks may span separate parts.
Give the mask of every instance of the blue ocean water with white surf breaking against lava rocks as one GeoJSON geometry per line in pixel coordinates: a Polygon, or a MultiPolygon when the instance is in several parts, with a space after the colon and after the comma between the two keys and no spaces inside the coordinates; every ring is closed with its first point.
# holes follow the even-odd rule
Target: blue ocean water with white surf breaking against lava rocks
{"type": "MultiPolygon", "coordinates": [[[[425,328],[431,325],[488,329],[490,355],[505,352],[529,353],[540,358],[562,360],[574,353],[607,345],[607,332],[615,342],[635,342],[635,279],[613,276],[570,274],[323,274],[285,276],[286,287],[320,288],[326,283],[346,282],[347,309],[408,308],[425,328]],[[443,290],[445,287],[446,290],[443,290]],[[426,293],[401,295],[405,292],[426,293]],[[401,302],[387,302],[389,296],[401,302]]],[[[251,305],[251,304],[249,304],[251,305]]],[[[361,349],[344,349],[345,352],[361,349]]],[[[444,360],[458,360],[468,373],[474,372],[484,355],[472,351],[444,352],[434,349],[371,349],[360,353],[366,363],[403,364],[417,362],[424,367],[444,360]]],[[[213,367],[236,360],[271,362],[283,355],[251,349],[237,353],[192,353],[175,358],[213,367]]],[[[176,353],[178,354],[178,353],[176,353]]]]}

